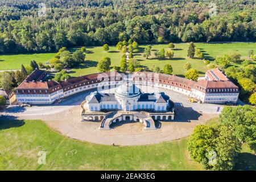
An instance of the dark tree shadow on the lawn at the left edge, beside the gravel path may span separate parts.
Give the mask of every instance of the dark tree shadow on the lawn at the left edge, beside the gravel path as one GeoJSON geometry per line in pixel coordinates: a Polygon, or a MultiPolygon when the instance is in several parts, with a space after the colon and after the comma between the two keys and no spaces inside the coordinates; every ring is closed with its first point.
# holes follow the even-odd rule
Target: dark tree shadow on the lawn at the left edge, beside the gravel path
{"type": "Polygon", "coordinates": [[[0,117],[0,131],[10,129],[12,127],[23,126],[25,122],[23,120],[17,120],[16,117],[11,115],[2,115],[0,117]]]}

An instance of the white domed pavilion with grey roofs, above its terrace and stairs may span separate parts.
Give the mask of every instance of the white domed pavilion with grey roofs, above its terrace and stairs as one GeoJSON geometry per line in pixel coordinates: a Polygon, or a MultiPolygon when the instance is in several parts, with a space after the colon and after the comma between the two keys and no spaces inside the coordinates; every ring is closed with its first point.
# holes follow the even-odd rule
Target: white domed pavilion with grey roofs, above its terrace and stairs
{"type": "Polygon", "coordinates": [[[155,110],[166,111],[170,98],[164,93],[142,93],[133,80],[123,80],[114,93],[93,92],[86,97],[86,109],[104,110],[155,110]]]}

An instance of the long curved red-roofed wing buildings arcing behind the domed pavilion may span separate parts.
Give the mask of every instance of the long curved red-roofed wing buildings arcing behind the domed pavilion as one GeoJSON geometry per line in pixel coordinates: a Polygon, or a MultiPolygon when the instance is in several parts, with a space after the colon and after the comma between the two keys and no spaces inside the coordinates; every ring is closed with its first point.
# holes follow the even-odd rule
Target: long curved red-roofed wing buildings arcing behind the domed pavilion
{"type": "MultiPolygon", "coordinates": [[[[45,71],[36,69],[15,90],[18,104],[52,104],[56,100],[90,89],[109,89],[122,84],[122,76],[118,72],[94,73],[69,80],[56,82],[47,80],[45,71]]],[[[212,69],[205,74],[205,80],[192,81],[174,75],[152,72],[136,72],[132,76],[134,84],[152,85],[154,87],[174,90],[189,97],[194,97],[203,103],[224,104],[236,103],[238,100],[238,86],[219,70],[212,69]]],[[[120,88],[120,90],[123,90],[120,88]]],[[[117,91],[118,92],[118,91],[117,91]]],[[[122,93],[119,93],[119,98],[122,93]]],[[[117,93],[117,100],[118,93],[117,93]]],[[[135,106],[135,109],[139,105],[135,106]]],[[[141,105],[142,107],[142,105],[141,105]]],[[[129,105],[129,110],[133,104],[129,105]]]]}

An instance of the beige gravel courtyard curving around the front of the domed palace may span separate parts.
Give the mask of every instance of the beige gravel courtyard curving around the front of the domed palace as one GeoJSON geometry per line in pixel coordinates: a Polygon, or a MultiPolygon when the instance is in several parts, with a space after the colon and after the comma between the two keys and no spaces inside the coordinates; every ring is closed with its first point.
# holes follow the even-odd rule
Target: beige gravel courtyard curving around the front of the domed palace
{"type": "Polygon", "coordinates": [[[174,121],[158,123],[159,128],[150,131],[144,131],[142,123],[122,122],[112,130],[98,130],[100,122],[81,122],[80,103],[90,92],[76,94],[51,106],[32,106],[25,109],[10,107],[0,114],[3,115],[3,119],[42,119],[53,130],[73,139],[98,144],[132,146],[188,137],[196,125],[202,125],[210,118],[218,117],[223,107],[191,103],[183,94],[164,89],[159,91],[165,92],[175,102],[177,115],[174,121]]]}

